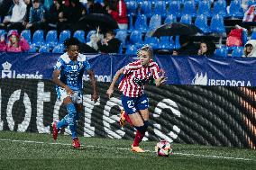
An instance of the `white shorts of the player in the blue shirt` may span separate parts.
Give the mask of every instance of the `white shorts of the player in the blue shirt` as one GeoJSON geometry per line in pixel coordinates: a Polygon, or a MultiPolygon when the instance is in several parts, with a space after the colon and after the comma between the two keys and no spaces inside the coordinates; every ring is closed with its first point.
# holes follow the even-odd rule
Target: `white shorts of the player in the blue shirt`
{"type": "Polygon", "coordinates": [[[83,99],[82,99],[82,93],[79,91],[73,91],[74,94],[68,94],[67,91],[64,88],[57,88],[57,95],[58,95],[58,99],[63,102],[63,100],[70,96],[71,100],[73,101],[73,103],[82,103],[83,99]]]}

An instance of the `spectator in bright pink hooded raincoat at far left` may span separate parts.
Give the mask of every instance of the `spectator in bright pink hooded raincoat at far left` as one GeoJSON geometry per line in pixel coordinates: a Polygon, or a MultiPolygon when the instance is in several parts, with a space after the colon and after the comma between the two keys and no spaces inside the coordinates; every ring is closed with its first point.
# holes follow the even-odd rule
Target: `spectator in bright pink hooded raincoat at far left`
{"type": "Polygon", "coordinates": [[[1,36],[0,51],[7,52],[23,52],[30,49],[29,43],[20,37],[17,31],[11,31],[8,35],[8,42],[6,43],[5,36],[1,36]]]}

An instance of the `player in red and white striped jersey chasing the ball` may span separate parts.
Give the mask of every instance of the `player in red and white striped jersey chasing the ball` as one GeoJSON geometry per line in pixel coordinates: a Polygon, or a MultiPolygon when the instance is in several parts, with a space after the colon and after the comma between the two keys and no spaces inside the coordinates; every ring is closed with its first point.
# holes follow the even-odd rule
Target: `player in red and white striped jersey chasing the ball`
{"type": "Polygon", "coordinates": [[[138,50],[137,56],[139,60],[129,63],[127,66],[118,70],[109,86],[106,94],[109,97],[114,92],[114,84],[121,75],[123,80],[119,84],[119,90],[122,94],[122,104],[125,112],[121,114],[121,125],[125,121],[133,124],[137,130],[132,145],[133,152],[144,152],[139,147],[139,143],[145,136],[145,132],[149,126],[149,99],[144,94],[144,85],[155,80],[157,86],[166,81],[164,73],[160,73],[160,67],[152,60],[153,51],[151,46],[145,45],[138,50]],[[161,74],[161,75],[160,75],[161,74]]]}

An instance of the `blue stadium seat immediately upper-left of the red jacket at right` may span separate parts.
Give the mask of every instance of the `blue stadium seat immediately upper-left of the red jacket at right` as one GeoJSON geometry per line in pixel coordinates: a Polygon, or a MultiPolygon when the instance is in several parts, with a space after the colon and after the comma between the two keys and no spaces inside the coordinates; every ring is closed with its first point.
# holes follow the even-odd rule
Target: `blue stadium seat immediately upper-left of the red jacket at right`
{"type": "Polygon", "coordinates": [[[225,28],[224,28],[224,18],[216,14],[213,16],[210,24],[210,30],[215,33],[224,33],[225,28]]]}

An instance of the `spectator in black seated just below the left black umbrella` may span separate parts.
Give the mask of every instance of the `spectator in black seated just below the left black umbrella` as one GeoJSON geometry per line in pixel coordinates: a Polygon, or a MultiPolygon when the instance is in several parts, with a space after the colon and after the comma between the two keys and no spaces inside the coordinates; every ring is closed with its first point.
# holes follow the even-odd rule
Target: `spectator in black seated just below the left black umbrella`
{"type": "Polygon", "coordinates": [[[118,53],[121,41],[115,38],[114,31],[106,31],[103,43],[97,41],[98,50],[102,53],[118,53]]]}

